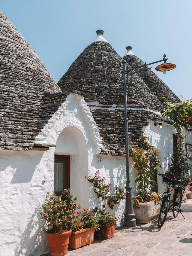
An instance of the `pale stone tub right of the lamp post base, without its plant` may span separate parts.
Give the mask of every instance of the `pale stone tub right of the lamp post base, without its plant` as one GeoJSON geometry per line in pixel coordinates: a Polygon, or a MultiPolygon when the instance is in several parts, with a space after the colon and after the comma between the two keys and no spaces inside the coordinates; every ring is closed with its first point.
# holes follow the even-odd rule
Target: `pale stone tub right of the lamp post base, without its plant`
{"type": "Polygon", "coordinates": [[[134,208],[134,213],[137,223],[155,221],[159,217],[160,203],[155,201],[140,203],[140,208],[134,208]]]}

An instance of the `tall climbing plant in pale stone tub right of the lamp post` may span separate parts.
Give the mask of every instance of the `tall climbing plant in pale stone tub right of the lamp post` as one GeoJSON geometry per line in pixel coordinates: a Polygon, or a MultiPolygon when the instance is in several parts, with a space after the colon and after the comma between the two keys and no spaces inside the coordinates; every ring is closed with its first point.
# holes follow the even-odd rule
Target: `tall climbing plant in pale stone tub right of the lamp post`
{"type": "MultiPolygon", "coordinates": [[[[148,138],[149,140],[149,138],[148,138]]],[[[129,153],[137,170],[139,194],[133,197],[135,218],[138,223],[149,223],[158,218],[160,212],[161,195],[152,192],[155,181],[153,175],[161,167],[155,148],[147,141],[147,137],[141,136],[141,148],[130,148],[129,153]]]]}

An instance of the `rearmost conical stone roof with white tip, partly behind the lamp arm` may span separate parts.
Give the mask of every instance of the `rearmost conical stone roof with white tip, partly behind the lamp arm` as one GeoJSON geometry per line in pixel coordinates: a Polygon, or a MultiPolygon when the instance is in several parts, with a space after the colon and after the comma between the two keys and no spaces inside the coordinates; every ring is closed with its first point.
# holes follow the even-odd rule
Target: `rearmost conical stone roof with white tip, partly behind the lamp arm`
{"type": "MultiPolygon", "coordinates": [[[[128,46],[126,49],[128,51],[123,58],[126,60],[126,62],[128,62],[131,68],[145,64],[131,51],[132,47],[128,46]]],[[[181,102],[176,94],[151,69],[149,69],[147,72],[141,71],[140,77],[158,99],[159,97],[163,96],[166,97],[170,102],[181,102]]]]}

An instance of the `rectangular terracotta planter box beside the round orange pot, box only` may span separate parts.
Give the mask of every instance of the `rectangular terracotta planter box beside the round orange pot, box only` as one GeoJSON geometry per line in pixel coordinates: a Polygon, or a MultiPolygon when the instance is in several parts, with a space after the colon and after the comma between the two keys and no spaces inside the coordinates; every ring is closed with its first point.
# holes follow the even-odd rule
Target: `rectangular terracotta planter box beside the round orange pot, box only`
{"type": "Polygon", "coordinates": [[[76,250],[81,246],[94,242],[94,228],[85,228],[76,232],[72,232],[69,237],[68,248],[76,250]]]}

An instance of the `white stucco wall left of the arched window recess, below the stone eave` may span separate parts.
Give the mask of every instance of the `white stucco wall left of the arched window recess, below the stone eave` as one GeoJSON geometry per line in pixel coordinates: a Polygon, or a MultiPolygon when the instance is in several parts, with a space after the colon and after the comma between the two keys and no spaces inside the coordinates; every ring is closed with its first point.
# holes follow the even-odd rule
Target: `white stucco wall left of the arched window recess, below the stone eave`
{"type": "Polygon", "coordinates": [[[53,190],[53,165],[54,148],[0,151],[0,255],[48,251],[39,213],[47,191],[53,190]]]}

